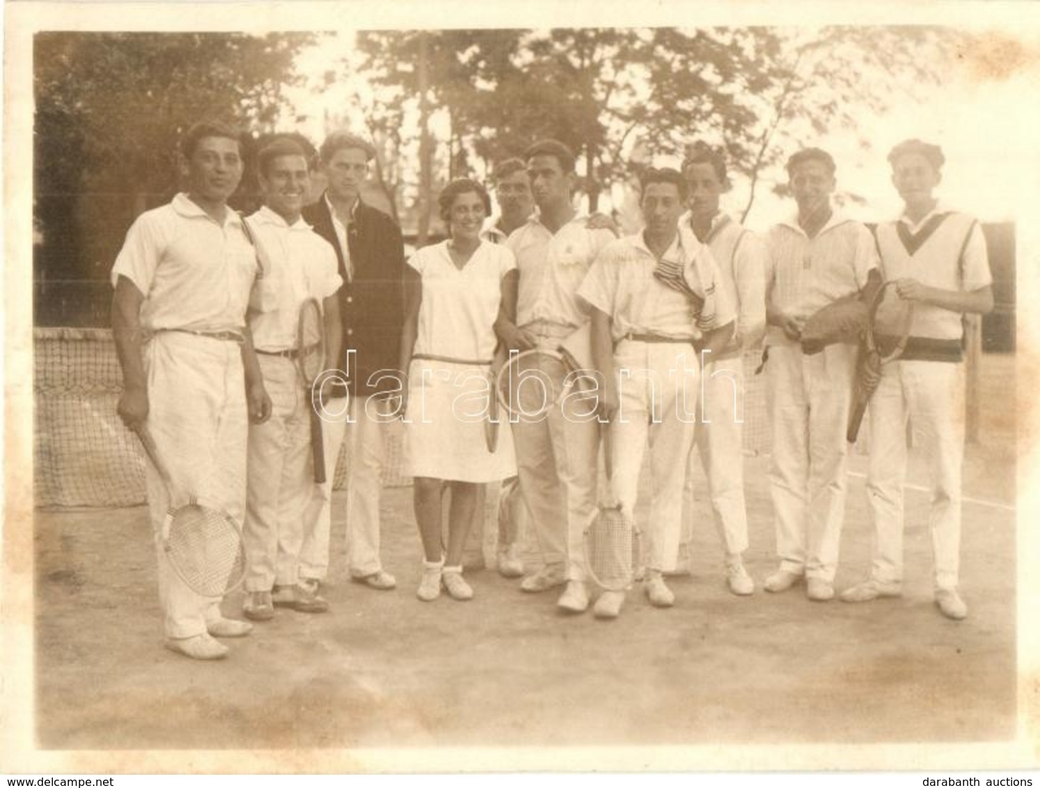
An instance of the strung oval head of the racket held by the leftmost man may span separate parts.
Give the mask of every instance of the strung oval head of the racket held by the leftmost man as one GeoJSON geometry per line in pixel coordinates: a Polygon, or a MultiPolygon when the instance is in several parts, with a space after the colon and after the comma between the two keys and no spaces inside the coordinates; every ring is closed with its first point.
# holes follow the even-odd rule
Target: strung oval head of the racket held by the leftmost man
{"type": "Polygon", "coordinates": [[[180,578],[205,597],[224,596],[245,573],[238,528],[214,509],[185,506],[175,511],[165,550],[180,578]]]}

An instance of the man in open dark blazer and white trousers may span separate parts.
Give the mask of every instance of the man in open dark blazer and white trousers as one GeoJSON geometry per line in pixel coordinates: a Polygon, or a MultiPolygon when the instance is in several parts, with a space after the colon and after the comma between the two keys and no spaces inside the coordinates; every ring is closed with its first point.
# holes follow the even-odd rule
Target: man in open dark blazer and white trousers
{"type": "Polygon", "coordinates": [[[353,134],[333,132],[319,151],[326,192],[304,208],[314,232],[336,249],[343,286],[339,290],[343,326],[346,395],[339,383],[322,389],[326,467],[329,480],[315,485],[307,513],[311,536],[301,575],[323,579],[329,567],[332,469],[340,446],[347,444],[346,553],[350,578],[371,588],[396,585],[380,560],[380,472],[385,453],[384,424],[397,416],[395,398],[402,377],[395,371],[404,323],[401,281],[405,245],[390,216],[361,200],[361,186],[375,149],[353,134]],[[348,417],[348,418],[347,418],[348,417]]]}

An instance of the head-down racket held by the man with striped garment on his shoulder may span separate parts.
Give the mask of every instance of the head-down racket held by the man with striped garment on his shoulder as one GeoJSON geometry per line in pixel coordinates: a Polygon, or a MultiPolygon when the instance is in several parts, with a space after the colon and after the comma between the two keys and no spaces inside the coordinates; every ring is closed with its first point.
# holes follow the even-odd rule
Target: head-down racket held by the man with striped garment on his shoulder
{"type": "MultiPolygon", "coordinates": [[[[609,429],[608,423],[601,423],[607,485],[613,478],[609,429]]],[[[589,575],[601,588],[621,592],[631,585],[636,568],[643,566],[643,540],[635,521],[622,510],[620,503],[600,504],[596,517],[586,528],[583,542],[589,575]]]]}

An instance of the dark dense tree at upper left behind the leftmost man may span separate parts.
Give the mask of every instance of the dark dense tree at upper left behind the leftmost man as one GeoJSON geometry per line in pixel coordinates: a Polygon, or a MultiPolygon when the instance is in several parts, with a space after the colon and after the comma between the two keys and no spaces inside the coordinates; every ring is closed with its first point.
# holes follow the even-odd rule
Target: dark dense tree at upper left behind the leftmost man
{"type": "Polygon", "coordinates": [[[101,279],[134,216],[177,184],[180,135],[203,117],[274,131],[310,34],[38,33],[37,279],[101,279]]]}

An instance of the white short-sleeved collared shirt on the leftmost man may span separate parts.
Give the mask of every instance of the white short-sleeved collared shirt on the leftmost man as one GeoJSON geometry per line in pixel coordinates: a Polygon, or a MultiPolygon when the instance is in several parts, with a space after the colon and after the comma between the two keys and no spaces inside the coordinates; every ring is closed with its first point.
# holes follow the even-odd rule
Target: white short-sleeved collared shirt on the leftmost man
{"type": "Polygon", "coordinates": [[[141,327],[241,331],[259,272],[256,252],[230,208],[224,224],[180,193],[130,227],[112,266],[145,295],[141,327]]]}

